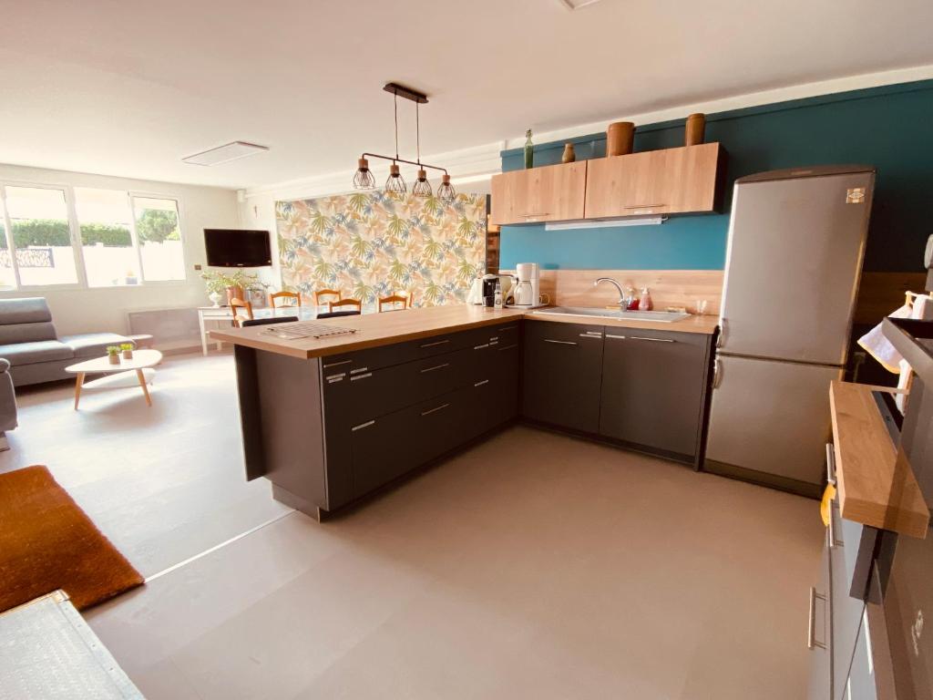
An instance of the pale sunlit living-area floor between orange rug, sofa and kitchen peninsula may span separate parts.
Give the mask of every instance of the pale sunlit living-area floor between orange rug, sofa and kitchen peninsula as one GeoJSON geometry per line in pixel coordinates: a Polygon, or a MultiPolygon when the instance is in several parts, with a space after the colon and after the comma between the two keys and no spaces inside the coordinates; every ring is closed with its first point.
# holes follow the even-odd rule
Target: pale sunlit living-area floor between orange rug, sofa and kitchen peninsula
{"type": "Polygon", "coordinates": [[[74,381],[17,392],[0,473],[49,467],[144,576],[289,512],[264,480],[244,481],[233,359],[165,357],[152,407],[133,388],[86,391],[74,381]]]}

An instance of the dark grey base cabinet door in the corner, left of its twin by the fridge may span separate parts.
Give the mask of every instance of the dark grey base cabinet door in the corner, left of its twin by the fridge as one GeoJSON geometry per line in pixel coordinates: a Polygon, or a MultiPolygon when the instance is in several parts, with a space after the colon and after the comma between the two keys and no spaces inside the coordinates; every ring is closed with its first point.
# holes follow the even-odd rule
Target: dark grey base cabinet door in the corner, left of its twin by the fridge
{"type": "Polygon", "coordinates": [[[528,321],[522,415],[582,432],[599,430],[603,327],[528,321]]]}

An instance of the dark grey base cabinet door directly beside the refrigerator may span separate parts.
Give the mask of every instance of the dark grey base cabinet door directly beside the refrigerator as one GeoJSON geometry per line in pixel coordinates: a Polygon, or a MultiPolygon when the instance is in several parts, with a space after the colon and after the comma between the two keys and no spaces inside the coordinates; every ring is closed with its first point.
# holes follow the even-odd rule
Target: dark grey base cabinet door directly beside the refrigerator
{"type": "Polygon", "coordinates": [[[710,336],[605,330],[599,433],[693,462],[703,435],[710,336]]]}

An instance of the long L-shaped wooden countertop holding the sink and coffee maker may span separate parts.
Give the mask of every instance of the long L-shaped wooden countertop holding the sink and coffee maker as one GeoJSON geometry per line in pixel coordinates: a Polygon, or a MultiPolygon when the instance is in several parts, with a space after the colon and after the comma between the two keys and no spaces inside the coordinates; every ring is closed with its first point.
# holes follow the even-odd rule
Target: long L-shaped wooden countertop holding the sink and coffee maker
{"type": "Polygon", "coordinates": [[[253,326],[246,329],[211,330],[211,339],[245,345],[257,350],[267,350],[291,357],[327,357],[340,353],[363,350],[379,345],[429,338],[441,333],[489,326],[507,321],[509,318],[530,318],[557,323],[581,323],[593,326],[614,326],[633,329],[673,330],[686,333],[713,333],[717,328],[716,316],[690,316],[675,323],[652,323],[635,319],[592,318],[581,316],[535,315],[524,309],[490,309],[484,306],[457,304],[455,306],[431,306],[408,309],[384,314],[363,314],[323,318],[314,323],[356,329],[353,335],[315,340],[304,338],[286,341],[267,332],[268,326],[253,326]]]}

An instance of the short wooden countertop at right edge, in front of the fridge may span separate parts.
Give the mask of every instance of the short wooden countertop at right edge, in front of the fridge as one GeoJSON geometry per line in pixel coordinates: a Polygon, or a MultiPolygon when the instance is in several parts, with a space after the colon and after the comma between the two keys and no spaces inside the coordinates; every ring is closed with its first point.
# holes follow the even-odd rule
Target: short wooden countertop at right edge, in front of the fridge
{"type": "Polygon", "coordinates": [[[840,512],[856,523],[923,539],[929,511],[907,455],[884,427],[871,396],[876,388],[829,386],[840,512]]]}

